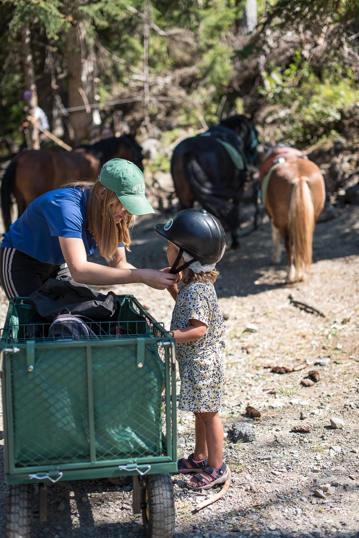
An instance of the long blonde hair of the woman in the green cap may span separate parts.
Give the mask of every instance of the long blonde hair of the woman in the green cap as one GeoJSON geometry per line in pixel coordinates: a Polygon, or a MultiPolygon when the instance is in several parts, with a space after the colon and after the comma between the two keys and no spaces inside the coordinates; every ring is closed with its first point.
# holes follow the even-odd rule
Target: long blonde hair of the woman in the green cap
{"type": "Polygon", "coordinates": [[[100,254],[106,261],[113,259],[118,243],[124,243],[125,249],[130,250],[130,226],[133,224],[133,215],[128,215],[118,224],[114,221],[111,206],[119,203],[119,199],[112,190],[106,189],[101,183],[94,181],[75,181],[63,187],[89,188],[87,200],[88,229],[95,237],[100,254]],[[103,194],[101,189],[105,188],[103,194]]]}

